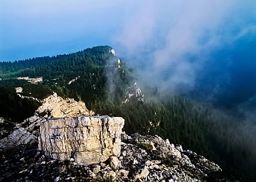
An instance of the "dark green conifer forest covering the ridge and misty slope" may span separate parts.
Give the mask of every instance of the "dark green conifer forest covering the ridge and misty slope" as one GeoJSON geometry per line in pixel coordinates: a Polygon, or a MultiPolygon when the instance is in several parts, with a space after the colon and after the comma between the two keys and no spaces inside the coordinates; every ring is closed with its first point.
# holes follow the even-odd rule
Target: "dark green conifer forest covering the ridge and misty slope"
{"type": "Polygon", "coordinates": [[[122,103],[125,90],[138,76],[122,60],[118,69],[117,57],[109,50],[100,46],[74,54],[0,63],[0,75],[12,75],[0,81],[0,116],[22,121],[39,106],[36,101],[17,96],[14,87],[23,87],[23,95],[38,98],[54,91],[64,98],[85,101],[98,115],[122,116],[128,134],[157,134],[212,159],[222,168],[254,172],[256,154],[250,145],[254,138],[232,131],[231,126],[242,123],[240,119],[182,96],[159,96],[158,89],[148,85],[142,88],[145,102],[131,97],[122,103]],[[32,85],[13,76],[42,76],[44,81],[32,85]]]}

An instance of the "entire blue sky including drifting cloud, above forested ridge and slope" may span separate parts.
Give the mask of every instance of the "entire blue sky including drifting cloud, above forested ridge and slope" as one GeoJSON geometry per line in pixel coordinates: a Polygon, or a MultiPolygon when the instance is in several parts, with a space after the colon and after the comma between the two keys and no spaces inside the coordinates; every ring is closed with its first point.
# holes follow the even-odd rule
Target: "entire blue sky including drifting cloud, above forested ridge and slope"
{"type": "Polygon", "coordinates": [[[255,10],[255,0],[1,0],[0,61],[110,45],[162,90],[245,88],[243,103],[256,95],[255,10]]]}

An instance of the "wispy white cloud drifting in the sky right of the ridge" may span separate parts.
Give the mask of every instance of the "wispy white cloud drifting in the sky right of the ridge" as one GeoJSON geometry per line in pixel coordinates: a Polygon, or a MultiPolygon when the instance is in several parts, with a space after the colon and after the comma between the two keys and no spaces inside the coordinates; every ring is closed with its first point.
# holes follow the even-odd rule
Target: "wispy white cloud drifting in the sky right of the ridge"
{"type": "MultiPolygon", "coordinates": [[[[240,4],[231,0],[140,1],[123,29],[115,35],[115,48],[134,61],[143,61],[141,55],[144,55],[144,61],[150,63],[144,69],[144,76],[150,81],[157,78],[159,84],[159,76],[169,69],[163,84],[192,88],[209,53],[234,41],[230,36],[239,38],[254,29],[250,27],[230,35],[230,29],[237,25],[236,13],[241,13],[240,4]]],[[[245,22],[239,23],[241,26],[245,22]]]]}

